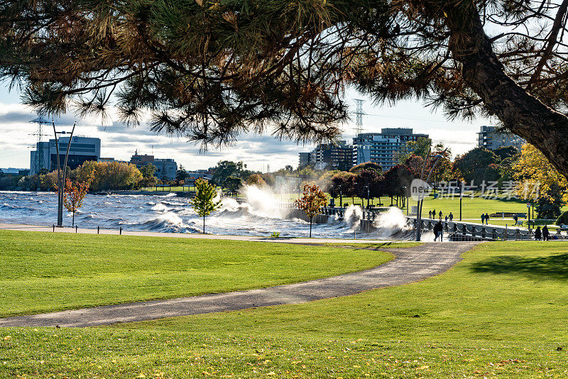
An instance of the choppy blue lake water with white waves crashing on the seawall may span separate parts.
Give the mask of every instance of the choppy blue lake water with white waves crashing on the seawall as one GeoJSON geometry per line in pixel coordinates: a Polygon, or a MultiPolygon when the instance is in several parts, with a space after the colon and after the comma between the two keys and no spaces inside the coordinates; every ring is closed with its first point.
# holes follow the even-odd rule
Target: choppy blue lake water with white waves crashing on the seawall
{"type": "MultiPolygon", "coordinates": [[[[207,216],[205,231],[209,234],[239,236],[305,237],[310,225],[299,219],[288,219],[286,211],[277,207],[278,195],[266,189],[247,187],[246,202],[222,198],[222,207],[207,216]]],[[[71,225],[70,212],[64,209],[64,224],[71,225]]],[[[317,238],[410,239],[405,218],[399,209],[391,209],[376,220],[378,231],[359,233],[361,210],[351,207],[346,221],[332,219],[328,224],[314,224],[312,236],[317,238]]],[[[52,225],[57,221],[57,194],[53,192],[0,192],[0,221],[13,224],[52,225]]],[[[129,231],[168,233],[200,233],[203,219],[193,211],[187,198],[164,195],[93,195],[87,194],[82,208],[75,214],[80,228],[122,227],[129,231]]]]}

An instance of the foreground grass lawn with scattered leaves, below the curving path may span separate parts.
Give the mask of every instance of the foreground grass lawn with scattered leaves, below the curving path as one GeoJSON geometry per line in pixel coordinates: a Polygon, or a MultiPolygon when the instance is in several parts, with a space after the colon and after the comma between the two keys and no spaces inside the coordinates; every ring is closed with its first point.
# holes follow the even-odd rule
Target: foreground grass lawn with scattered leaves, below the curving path
{"type": "Polygon", "coordinates": [[[299,305],[0,329],[0,377],[566,378],[568,244],[485,243],[447,273],[299,305]]]}

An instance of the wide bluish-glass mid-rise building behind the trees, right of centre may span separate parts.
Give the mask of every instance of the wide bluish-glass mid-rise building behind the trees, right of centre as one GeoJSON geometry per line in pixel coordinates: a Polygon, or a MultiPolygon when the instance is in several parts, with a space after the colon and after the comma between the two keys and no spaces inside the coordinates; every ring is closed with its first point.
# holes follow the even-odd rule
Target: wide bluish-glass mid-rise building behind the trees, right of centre
{"type": "Polygon", "coordinates": [[[353,138],[353,165],[373,162],[383,171],[398,164],[398,155],[408,141],[428,138],[427,134],[413,133],[412,128],[383,128],[381,133],[361,133],[353,138]]]}

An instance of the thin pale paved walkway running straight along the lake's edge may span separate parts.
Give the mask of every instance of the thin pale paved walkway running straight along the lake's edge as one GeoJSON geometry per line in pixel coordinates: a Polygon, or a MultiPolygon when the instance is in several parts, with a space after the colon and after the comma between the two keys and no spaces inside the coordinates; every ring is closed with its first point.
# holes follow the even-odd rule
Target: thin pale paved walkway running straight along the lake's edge
{"type": "MultiPolygon", "coordinates": [[[[53,226],[25,225],[25,224],[6,224],[0,222],[0,229],[19,230],[19,231],[48,231],[55,233],[79,233],[97,234],[97,229],[77,229],[75,228],[55,228],[53,226]]],[[[119,234],[119,229],[101,229],[100,234],[119,234]]],[[[250,241],[250,242],[278,242],[278,243],[382,243],[396,241],[376,240],[376,239],[344,239],[344,238],[271,238],[268,236],[226,236],[219,234],[197,234],[197,233],[162,233],[159,231],[122,231],[123,236],[148,236],[148,237],[171,237],[171,238],[197,238],[197,239],[222,239],[231,241],[250,241]]]]}

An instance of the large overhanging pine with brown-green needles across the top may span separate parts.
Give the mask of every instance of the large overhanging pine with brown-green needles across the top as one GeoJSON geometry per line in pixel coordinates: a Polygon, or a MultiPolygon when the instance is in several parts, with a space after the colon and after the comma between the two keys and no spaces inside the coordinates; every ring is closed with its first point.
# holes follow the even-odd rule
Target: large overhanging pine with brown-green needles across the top
{"type": "Polygon", "coordinates": [[[330,141],[356,87],[493,115],[568,174],[567,0],[4,1],[0,77],[38,111],[207,145],[330,141]]]}

